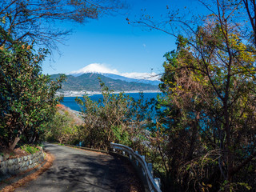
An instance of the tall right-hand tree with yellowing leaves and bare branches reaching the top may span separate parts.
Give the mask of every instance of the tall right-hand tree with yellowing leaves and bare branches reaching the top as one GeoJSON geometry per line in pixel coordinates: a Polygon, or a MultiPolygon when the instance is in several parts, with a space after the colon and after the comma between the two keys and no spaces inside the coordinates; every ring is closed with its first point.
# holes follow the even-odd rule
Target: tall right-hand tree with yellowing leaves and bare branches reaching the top
{"type": "Polygon", "coordinates": [[[204,5],[210,13],[198,18],[198,25],[177,14],[163,22],[180,23],[179,34],[147,19],[137,22],[178,38],[177,50],[166,54],[164,64],[162,90],[167,99],[161,102],[170,106],[166,110],[171,108],[165,110],[170,131],[168,146],[159,150],[166,150],[165,161],[179,185],[188,182],[187,188],[200,191],[239,190],[246,182],[254,186],[246,170],[255,166],[256,156],[255,49],[234,18],[239,4],[217,0],[204,5]]]}

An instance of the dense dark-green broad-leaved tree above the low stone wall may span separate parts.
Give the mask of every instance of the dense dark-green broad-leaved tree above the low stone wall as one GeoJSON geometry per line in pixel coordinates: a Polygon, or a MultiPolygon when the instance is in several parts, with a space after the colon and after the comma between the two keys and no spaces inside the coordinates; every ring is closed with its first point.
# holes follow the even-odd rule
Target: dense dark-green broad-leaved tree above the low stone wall
{"type": "Polygon", "coordinates": [[[42,138],[58,102],[56,91],[64,77],[55,82],[42,74],[46,50],[34,54],[33,47],[16,43],[0,49],[0,146],[14,150],[22,140],[36,143],[42,138]]]}

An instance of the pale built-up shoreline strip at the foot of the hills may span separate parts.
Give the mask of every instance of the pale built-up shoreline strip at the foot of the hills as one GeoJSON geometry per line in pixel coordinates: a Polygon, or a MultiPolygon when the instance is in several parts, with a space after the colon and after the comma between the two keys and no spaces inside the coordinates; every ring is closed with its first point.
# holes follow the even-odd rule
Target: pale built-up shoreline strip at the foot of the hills
{"type": "MultiPolygon", "coordinates": [[[[160,90],[127,90],[127,91],[114,91],[113,94],[138,94],[138,93],[162,93],[160,90]]],[[[94,94],[102,94],[101,91],[75,91],[75,90],[68,90],[68,91],[63,91],[63,92],[58,92],[57,95],[62,95],[64,97],[82,97],[83,95],[88,94],[88,95],[94,95],[94,94]]]]}

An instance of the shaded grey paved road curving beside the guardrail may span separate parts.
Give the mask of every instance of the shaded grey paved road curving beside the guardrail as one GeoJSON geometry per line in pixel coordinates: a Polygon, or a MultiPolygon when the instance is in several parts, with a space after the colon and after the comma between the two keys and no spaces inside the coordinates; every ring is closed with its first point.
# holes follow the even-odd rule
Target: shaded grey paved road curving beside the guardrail
{"type": "MultiPolygon", "coordinates": [[[[17,192],[62,191],[130,191],[131,182],[138,184],[134,170],[128,162],[109,154],[78,150],[68,146],[46,144],[54,154],[53,166],[36,180],[18,188],[17,192]]],[[[143,191],[143,190],[141,190],[143,191]]]]}

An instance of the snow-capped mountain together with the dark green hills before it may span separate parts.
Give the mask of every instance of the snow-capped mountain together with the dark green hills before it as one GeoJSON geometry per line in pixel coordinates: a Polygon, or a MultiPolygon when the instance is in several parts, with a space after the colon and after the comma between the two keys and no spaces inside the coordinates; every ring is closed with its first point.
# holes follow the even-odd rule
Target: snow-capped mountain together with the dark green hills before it
{"type": "MultiPolygon", "coordinates": [[[[61,74],[52,74],[51,78],[58,78],[61,74]]],[[[66,75],[66,82],[62,84],[62,92],[66,91],[100,91],[98,78],[114,91],[149,91],[158,90],[158,75],[151,73],[119,73],[104,64],[92,63],[80,70],[66,75]]]]}

